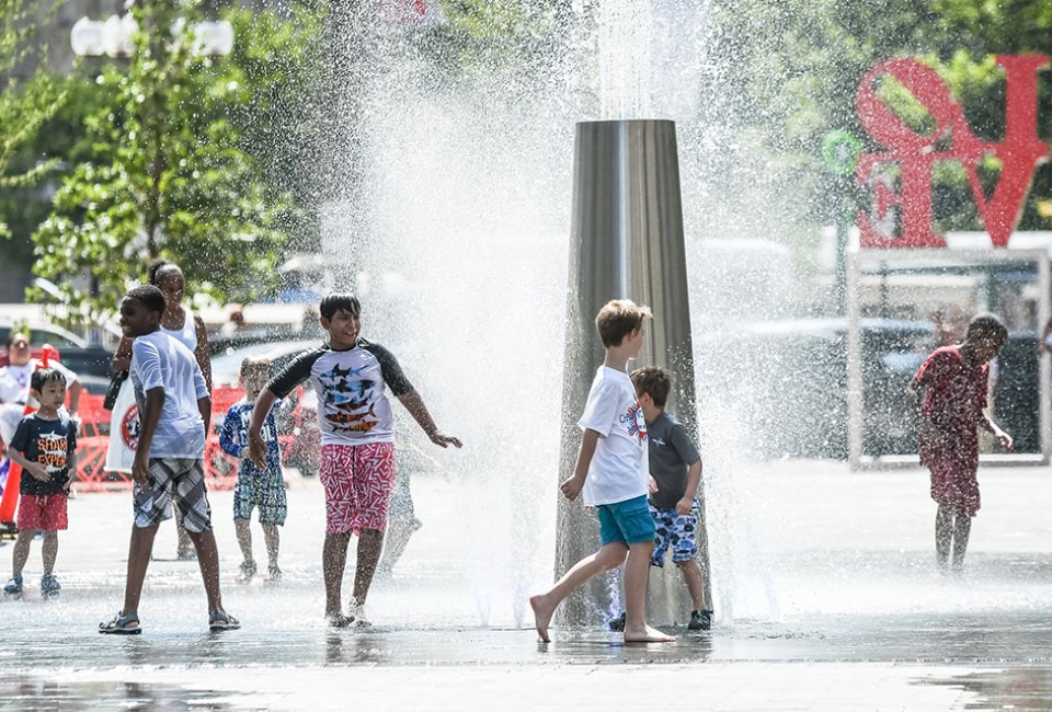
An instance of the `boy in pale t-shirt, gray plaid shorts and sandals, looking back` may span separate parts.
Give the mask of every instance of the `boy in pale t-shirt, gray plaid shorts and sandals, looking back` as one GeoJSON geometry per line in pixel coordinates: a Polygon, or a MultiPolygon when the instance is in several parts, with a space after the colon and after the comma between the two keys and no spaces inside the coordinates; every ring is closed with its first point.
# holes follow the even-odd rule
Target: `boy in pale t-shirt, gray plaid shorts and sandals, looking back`
{"type": "Polygon", "coordinates": [[[135,482],[135,521],[128,551],[124,608],[100,623],[100,633],[136,634],[139,596],[161,521],[172,516],[172,504],[197,549],[201,576],[208,598],[208,628],[213,632],[240,628],[222,610],[219,595],[219,553],[211,532],[211,508],[205,491],[205,433],[211,398],[193,353],[159,330],[164,295],[157,287],[136,287],[121,302],[121,329],[134,338],[132,370],[139,407],[139,440],[132,464],[135,482]]]}

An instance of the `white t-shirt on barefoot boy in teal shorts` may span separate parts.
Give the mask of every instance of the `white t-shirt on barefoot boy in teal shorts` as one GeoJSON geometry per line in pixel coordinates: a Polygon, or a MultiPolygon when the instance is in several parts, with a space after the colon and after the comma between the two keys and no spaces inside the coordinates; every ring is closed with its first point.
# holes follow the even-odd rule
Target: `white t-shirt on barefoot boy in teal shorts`
{"type": "Polygon", "coordinates": [[[584,481],[584,504],[615,504],[647,494],[647,422],[628,374],[599,366],[578,421],[599,441],[584,481]]]}

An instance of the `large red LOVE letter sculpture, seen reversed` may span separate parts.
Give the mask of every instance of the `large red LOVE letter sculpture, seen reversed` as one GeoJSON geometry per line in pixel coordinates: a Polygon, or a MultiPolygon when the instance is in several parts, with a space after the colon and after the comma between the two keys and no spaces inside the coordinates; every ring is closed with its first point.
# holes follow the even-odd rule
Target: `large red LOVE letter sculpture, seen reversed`
{"type": "Polygon", "coordinates": [[[887,216],[894,206],[902,209],[901,232],[882,233],[865,213],[858,215],[859,243],[864,248],[941,248],[946,241],[931,230],[931,166],[936,161],[958,161],[968,172],[979,215],[993,244],[1005,246],[1011,236],[1038,164],[1049,154],[1038,138],[1038,71],[1049,66],[1042,55],[998,56],[1005,70],[1005,137],[1000,142],[981,141],[969,127],[961,105],[953,101],[946,82],[916,59],[880,62],[862,78],[856,111],[869,136],[887,151],[859,157],[856,180],[873,192],[874,213],[887,216]],[[878,82],[891,77],[899,81],[928,111],[935,130],[914,131],[878,95],[878,82]],[[949,137],[949,150],[936,145],[949,137]],[[980,181],[979,164],[993,154],[1000,163],[993,192],[987,196],[980,181]],[[874,181],[877,169],[897,163],[902,180],[897,193],[874,181]]]}

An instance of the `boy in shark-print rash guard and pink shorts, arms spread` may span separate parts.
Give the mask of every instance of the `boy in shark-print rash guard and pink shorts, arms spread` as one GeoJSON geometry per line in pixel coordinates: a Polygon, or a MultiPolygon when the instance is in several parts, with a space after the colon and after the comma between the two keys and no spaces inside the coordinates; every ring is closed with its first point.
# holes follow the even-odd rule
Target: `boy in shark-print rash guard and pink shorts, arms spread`
{"type": "Polygon", "coordinates": [[[304,352],[266,384],[249,425],[252,459],[266,458],[261,435],[271,406],[310,380],[318,394],[321,482],[325,487],[325,618],[334,628],[368,625],[365,601],[384,547],[388,501],[395,485],[395,429],[387,389],[405,406],[431,441],[460,447],[443,435],[389,351],[362,338],[362,306],[348,294],[329,295],[319,306],[327,344],[304,352]],[[343,572],[351,535],[358,535],[350,615],[342,612],[343,572]]]}

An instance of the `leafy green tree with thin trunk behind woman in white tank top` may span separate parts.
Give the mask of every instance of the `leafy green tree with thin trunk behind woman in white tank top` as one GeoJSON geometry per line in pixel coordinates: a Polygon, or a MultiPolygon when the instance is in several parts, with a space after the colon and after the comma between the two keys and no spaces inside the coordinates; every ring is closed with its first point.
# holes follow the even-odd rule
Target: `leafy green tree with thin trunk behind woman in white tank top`
{"type": "MultiPolygon", "coordinates": [[[[82,320],[111,311],[128,280],[160,256],[183,267],[192,294],[271,296],[296,209],[288,190],[268,180],[265,151],[247,142],[262,141],[263,124],[253,136],[238,118],[275,103],[255,83],[274,74],[260,65],[296,58],[247,32],[243,15],[235,55],[201,56],[191,30],[204,19],[197,2],[138,3],[133,14],[135,51],[95,80],[102,105],[87,119],[91,156],[64,181],[33,236],[34,271],[61,286],[71,318],[82,320]]],[[[307,31],[296,41],[306,42],[307,31]]]]}

